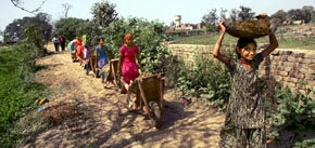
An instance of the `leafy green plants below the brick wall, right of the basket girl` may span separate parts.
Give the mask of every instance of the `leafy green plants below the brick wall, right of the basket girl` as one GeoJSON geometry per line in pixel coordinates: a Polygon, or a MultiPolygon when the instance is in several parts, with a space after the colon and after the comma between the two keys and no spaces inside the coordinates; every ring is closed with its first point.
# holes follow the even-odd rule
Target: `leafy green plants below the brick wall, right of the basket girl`
{"type": "Polygon", "coordinates": [[[315,90],[306,89],[304,95],[300,92],[292,94],[289,88],[276,89],[277,107],[267,112],[272,127],[269,137],[277,138],[284,132],[291,132],[293,137],[290,140],[295,147],[314,144],[314,138],[307,139],[307,134],[315,132],[315,102],[308,96],[312,92],[315,90]]]}

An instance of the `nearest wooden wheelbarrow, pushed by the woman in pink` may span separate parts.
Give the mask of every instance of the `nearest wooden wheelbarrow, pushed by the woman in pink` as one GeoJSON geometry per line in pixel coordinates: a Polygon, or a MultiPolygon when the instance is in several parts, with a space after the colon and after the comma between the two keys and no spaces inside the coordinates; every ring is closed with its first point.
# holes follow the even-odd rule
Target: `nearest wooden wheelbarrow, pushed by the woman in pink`
{"type": "Polygon", "coordinates": [[[160,129],[163,124],[163,95],[164,95],[164,73],[140,76],[135,81],[127,84],[121,79],[122,85],[126,88],[129,108],[131,107],[131,94],[136,94],[136,103],[140,104],[140,108],[146,107],[146,113],[149,116],[153,125],[160,129]]]}

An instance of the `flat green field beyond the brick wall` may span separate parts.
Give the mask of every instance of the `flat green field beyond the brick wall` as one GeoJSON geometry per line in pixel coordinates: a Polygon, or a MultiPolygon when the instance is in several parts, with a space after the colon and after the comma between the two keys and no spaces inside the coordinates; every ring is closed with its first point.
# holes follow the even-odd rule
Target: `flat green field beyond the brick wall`
{"type": "MultiPolygon", "coordinates": [[[[279,42],[279,49],[300,49],[300,50],[315,50],[315,38],[300,38],[294,33],[289,33],[288,31],[304,31],[306,29],[315,29],[315,27],[304,26],[284,26],[278,29],[279,33],[276,37],[279,42]]],[[[219,32],[212,32],[206,35],[196,35],[189,37],[174,37],[174,42],[176,44],[204,44],[214,45],[218,39],[219,32]]],[[[226,33],[223,44],[235,44],[238,38],[235,38],[226,33]]],[[[255,39],[257,43],[268,43],[268,37],[263,37],[255,39]]]]}

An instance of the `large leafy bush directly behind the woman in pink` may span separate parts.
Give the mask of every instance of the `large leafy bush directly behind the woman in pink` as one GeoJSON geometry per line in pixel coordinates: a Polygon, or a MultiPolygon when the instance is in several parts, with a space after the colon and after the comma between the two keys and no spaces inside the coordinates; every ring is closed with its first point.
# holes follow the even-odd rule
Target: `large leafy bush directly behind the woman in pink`
{"type": "Polygon", "coordinates": [[[172,66],[169,64],[171,51],[162,45],[168,39],[164,32],[164,25],[136,17],[116,19],[102,30],[104,42],[112,49],[114,57],[119,56],[124,37],[128,32],[134,35],[135,44],[140,49],[140,57],[146,71],[165,72],[167,67],[172,66]]]}

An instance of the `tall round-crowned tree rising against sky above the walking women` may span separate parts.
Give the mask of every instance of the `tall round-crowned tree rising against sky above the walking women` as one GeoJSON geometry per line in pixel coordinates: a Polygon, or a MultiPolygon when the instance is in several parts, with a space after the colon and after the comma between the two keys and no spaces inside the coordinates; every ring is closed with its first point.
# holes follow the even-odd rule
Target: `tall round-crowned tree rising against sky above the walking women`
{"type": "Polygon", "coordinates": [[[108,27],[117,17],[116,5],[108,1],[97,2],[91,8],[93,19],[103,27],[108,27]]]}

